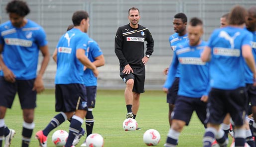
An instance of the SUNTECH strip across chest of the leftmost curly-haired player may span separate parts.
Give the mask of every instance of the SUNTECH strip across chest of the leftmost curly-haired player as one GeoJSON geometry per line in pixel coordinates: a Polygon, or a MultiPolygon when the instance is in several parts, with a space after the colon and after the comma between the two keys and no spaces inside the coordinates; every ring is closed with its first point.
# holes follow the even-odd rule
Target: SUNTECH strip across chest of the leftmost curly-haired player
{"type": "Polygon", "coordinates": [[[21,47],[31,47],[33,42],[30,40],[23,40],[17,38],[5,38],[4,42],[6,45],[10,46],[21,46],[21,47]]]}

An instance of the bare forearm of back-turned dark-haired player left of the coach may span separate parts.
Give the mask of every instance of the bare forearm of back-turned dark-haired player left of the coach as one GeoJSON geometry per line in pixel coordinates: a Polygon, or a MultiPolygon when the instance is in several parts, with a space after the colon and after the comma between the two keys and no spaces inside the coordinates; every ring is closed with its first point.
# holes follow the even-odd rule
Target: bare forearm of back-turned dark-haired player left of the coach
{"type": "Polygon", "coordinates": [[[92,69],[95,77],[97,77],[99,75],[99,71],[98,71],[97,67],[85,55],[85,50],[84,49],[77,49],[76,50],[76,57],[87,68],[92,69]]]}

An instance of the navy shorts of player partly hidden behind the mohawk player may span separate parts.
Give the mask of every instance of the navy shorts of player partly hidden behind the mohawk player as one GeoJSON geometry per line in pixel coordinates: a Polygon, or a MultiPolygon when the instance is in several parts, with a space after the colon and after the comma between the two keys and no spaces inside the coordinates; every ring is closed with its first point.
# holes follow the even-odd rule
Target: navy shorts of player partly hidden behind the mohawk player
{"type": "Polygon", "coordinates": [[[174,104],[178,95],[180,78],[175,77],[172,86],[168,89],[167,103],[174,104]]]}

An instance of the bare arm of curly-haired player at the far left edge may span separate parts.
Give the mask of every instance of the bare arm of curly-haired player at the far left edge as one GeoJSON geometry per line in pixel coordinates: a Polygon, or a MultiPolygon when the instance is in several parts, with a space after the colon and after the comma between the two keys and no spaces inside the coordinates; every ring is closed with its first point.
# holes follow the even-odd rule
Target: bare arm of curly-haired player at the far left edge
{"type": "MultiPolygon", "coordinates": [[[[0,53],[3,50],[3,46],[0,45],[0,53]]],[[[14,83],[15,82],[15,75],[13,72],[4,64],[2,56],[0,55],[0,67],[3,71],[4,79],[8,82],[14,83]]]]}

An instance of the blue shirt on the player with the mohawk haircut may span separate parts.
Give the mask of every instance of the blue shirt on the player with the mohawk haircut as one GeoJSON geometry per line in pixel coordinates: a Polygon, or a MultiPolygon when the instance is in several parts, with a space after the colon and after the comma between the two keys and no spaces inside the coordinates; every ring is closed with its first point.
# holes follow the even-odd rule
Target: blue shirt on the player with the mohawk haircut
{"type": "Polygon", "coordinates": [[[180,65],[179,96],[201,98],[208,95],[210,91],[209,63],[203,62],[200,58],[206,45],[205,41],[201,41],[198,46],[185,43],[180,45],[174,53],[167,79],[169,83],[173,83],[177,67],[180,65]]]}

